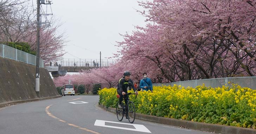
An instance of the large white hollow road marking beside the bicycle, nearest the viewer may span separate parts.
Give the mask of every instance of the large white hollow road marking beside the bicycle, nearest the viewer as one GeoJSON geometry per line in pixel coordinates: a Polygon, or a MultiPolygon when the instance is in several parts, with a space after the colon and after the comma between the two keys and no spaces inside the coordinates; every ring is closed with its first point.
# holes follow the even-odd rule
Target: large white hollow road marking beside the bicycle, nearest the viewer
{"type": "Polygon", "coordinates": [[[139,125],[139,124],[130,124],[130,123],[122,123],[122,122],[114,122],[114,121],[96,120],[95,123],[94,123],[94,126],[110,127],[110,128],[117,128],[117,129],[124,129],[124,130],[132,130],[132,131],[138,131],[138,132],[151,133],[144,125],[139,125]],[[132,126],[135,127],[135,129],[125,128],[125,127],[108,126],[108,125],[105,125],[105,122],[124,124],[124,125],[132,125],[132,126]]]}

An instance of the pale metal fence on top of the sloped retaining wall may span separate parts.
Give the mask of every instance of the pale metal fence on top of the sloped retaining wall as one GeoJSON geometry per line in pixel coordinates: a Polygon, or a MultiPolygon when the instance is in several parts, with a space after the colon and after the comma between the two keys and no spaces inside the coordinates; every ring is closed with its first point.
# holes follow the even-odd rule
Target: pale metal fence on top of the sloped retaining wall
{"type": "MultiPolygon", "coordinates": [[[[0,57],[8,58],[20,62],[24,62],[31,65],[36,65],[36,56],[20,51],[18,49],[0,44],[0,57]]],[[[44,67],[44,61],[40,58],[40,67],[44,67]]]]}

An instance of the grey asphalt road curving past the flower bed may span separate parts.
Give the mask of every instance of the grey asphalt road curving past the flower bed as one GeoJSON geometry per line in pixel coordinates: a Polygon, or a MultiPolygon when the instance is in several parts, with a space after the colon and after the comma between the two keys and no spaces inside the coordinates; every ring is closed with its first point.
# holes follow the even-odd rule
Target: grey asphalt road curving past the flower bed
{"type": "Polygon", "coordinates": [[[0,134],[211,134],[136,119],[120,122],[97,106],[98,99],[63,96],[1,108],[0,134]]]}

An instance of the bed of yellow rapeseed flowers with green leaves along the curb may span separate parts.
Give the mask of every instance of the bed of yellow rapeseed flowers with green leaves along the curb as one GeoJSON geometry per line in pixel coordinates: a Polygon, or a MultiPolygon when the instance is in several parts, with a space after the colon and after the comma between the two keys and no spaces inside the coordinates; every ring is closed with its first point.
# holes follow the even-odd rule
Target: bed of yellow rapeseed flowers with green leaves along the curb
{"type": "MultiPolygon", "coordinates": [[[[100,101],[106,107],[115,107],[118,99],[116,88],[99,91],[100,101]]],[[[136,112],[220,125],[246,127],[256,126],[256,90],[233,85],[211,88],[180,85],[153,87],[148,91],[130,95],[136,112]]]]}

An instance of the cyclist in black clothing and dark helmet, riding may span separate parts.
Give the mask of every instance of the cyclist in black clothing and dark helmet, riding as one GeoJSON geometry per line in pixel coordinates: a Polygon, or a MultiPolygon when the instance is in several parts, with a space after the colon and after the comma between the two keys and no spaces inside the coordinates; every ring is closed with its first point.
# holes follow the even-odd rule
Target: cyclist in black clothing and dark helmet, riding
{"type": "Polygon", "coordinates": [[[133,89],[136,95],[138,94],[138,92],[136,91],[136,88],[133,85],[133,81],[130,79],[131,73],[128,71],[125,71],[123,75],[124,77],[119,80],[119,84],[117,85],[117,93],[120,95],[119,105],[118,105],[119,108],[122,108],[121,103],[122,103],[123,97],[124,97],[124,102],[125,103],[128,102],[127,91],[129,89],[133,89]]]}

